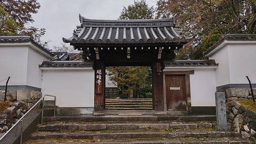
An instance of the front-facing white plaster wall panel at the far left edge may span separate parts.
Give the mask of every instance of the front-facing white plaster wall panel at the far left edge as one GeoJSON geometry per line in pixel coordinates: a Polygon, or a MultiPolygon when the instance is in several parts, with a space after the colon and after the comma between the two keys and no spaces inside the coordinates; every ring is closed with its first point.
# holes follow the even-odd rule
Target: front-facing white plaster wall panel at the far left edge
{"type": "Polygon", "coordinates": [[[0,81],[10,76],[8,85],[26,85],[28,46],[0,46],[0,55],[0,81]]]}

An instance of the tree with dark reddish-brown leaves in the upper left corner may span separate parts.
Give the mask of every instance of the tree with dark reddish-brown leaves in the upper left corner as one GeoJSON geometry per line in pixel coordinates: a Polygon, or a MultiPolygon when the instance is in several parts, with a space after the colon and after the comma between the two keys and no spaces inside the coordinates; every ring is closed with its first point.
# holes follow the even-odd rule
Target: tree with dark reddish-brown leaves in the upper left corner
{"type": "MultiPolygon", "coordinates": [[[[1,33],[1,35],[28,35],[33,36],[36,42],[41,42],[40,39],[46,30],[25,26],[25,24],[34,22],[32,14],[38,13],[38,9],[41,7],[37,0],[0,0],[0,6],[12,18],[13,23],[16,22],[15,25],[12,25],[15,31],[6,29],[5,33],[1,33]]],[[[9,26],[6,23],[3,27],[9,26]]],[[[45,43],[43,44],[45,45],[45,43]]]]}

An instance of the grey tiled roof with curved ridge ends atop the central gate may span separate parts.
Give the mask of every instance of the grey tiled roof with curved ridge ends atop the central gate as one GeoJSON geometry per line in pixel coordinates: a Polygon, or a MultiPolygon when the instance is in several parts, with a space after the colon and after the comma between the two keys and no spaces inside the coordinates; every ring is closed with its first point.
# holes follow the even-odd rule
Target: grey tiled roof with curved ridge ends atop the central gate
{"type": "Polygon", "coordinates": [[[65,43],[178,43],[186,42],[174,17],[154,20],[92,20],[79,14],[77,26],[65,43]]]}

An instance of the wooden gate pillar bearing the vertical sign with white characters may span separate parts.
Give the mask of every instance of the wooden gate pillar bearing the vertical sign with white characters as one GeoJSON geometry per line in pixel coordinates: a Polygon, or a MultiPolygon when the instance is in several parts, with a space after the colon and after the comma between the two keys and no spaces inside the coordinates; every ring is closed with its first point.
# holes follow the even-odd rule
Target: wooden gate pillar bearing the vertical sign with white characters
{"type": "Polygon", "coordinates": [[[105,64],[102,61],[94,62],[94,111],[93,115],[104,114],[104,96],[105,96],[105,64]]]}

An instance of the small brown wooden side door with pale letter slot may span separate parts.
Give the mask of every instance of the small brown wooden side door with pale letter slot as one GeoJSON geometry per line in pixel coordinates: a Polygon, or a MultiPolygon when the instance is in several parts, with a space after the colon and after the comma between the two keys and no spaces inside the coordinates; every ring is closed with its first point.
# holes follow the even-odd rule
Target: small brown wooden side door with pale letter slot
{"type": "Polygon", "coordinates": [[[167,110],[186,110],[185,75],[166,75],[167,110]]]}

